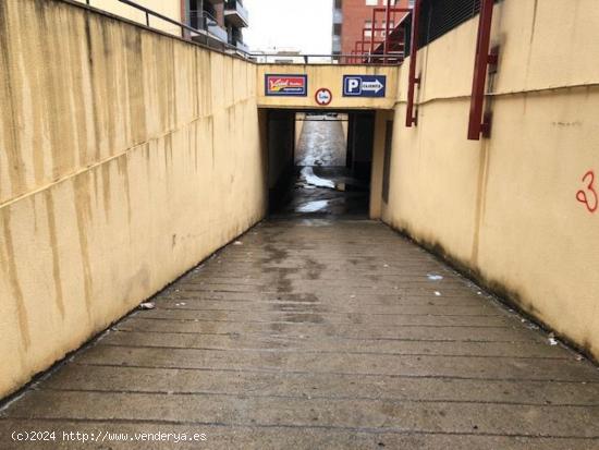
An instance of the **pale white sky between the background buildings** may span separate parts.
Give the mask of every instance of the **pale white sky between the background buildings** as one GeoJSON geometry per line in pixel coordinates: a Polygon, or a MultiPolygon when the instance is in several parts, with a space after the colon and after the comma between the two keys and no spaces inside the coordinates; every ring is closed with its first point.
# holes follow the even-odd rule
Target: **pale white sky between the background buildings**
{"type": "Polygon", "coordinates": [[[244,41],[255,50],[290,47],[302,53],[330,54],[332,0],[244,0],[249,27],[244,41]]]}

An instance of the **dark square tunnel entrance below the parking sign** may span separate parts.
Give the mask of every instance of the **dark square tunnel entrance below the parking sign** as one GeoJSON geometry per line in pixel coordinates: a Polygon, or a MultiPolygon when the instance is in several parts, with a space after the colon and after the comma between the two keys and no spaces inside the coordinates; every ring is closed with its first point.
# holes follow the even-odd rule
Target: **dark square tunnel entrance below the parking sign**
{"type": "Polygon", "coordinates": [[[368,218],[375,112],[267,114],[269,216],[368,218]]]}

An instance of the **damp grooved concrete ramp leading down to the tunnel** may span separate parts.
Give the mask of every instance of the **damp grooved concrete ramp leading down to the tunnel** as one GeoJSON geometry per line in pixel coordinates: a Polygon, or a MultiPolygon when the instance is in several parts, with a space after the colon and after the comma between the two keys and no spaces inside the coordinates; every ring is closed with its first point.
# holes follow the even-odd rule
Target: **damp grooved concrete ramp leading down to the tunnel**
{"type": "Polygon", "coordinates": [[[599,448],[597,368],[381,223],[262,222],[155,300],[5,408],[0,448],[599,448]]]}

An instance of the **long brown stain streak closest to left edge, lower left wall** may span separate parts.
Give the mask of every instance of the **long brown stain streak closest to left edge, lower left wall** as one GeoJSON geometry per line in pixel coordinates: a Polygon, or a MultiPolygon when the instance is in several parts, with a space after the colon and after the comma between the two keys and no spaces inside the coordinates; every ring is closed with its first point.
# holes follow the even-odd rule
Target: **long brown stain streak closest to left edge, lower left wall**
{"type": "Polygon", "coordinates": [[[27,314],[27,307],[25,306],[25,296],[23,295],[23,290],[21,289],[21,283],[19,282],[19,272],[16,270],[16,262],[14,256],[15,252],[11,232],[10,208],[3,208],[2,210],[0,210],[0,219],[2,220],[0,224],[2,226],[8,263],[7,265],[2,265],[5,267],[0,267],[0,269],[7,272],[12,294],[14,296],[14,300],[16,301],[15,306],[19,320],[19,329],[21,331],[21,337],[23,338],[22,340],[20,340],[21,351],[22,356],[24,356],[24,352],[27,351],[29,349],[29,345],[32,344],[32,337],[29,332],[29,318],[27,314]]]}

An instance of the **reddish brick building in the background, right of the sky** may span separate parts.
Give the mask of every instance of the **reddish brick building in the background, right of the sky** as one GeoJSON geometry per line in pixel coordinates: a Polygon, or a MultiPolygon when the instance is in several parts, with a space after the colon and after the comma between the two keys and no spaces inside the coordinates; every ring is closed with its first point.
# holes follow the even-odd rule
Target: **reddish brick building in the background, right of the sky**
{"type": "MultiPolygon", "coordinates": [[[[375,41],[384,39],[387,21],[384,13],[377,15],[377,23],[372,24],[372,10],[387,7],[388,0],[333,0],[333,54],[352,54],[356,50],[356,44],[364,39],[369,40],[375,34],[375,41]]],[[[408,8],[413,0],[389,0],[389,4],[395,8],[408,8]]],[[[393,28],[403,14],[392,14],[390,28],[393,28]]],[[[359,45],[358,45],[359,47],[359,45]]]]}

